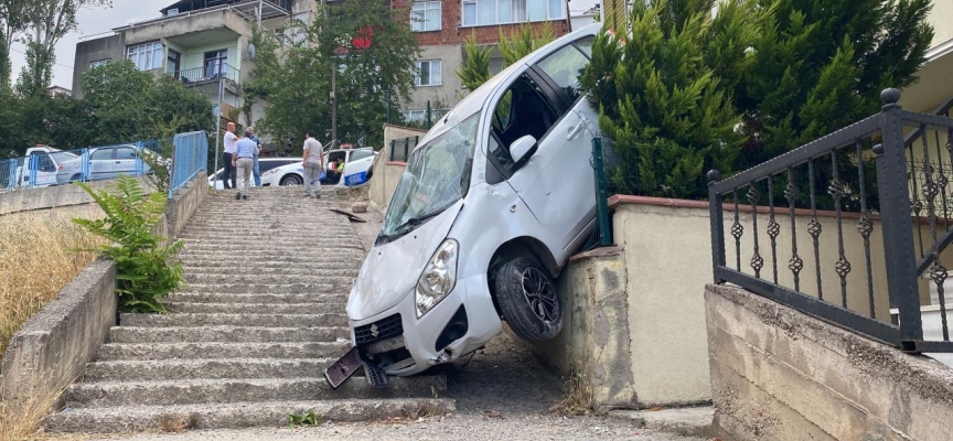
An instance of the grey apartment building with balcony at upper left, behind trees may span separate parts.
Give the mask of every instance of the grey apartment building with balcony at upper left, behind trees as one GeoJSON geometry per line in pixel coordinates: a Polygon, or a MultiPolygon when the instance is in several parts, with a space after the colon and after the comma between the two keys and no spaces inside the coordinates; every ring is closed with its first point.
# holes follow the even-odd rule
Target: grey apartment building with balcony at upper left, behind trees
{"type": "Polygon", "coordinates": [[[255,67],[254,50],[249,50],[255,28],[292,35],[292,19],[310,23],[317,13],[314,0],[176,1],[157,11],[152,20],[81,41],[73,90],[82,98],[86,72],[128,58],[140,71],[170,75],[186,87],[197,88],[216,105],[222,87],[221,118],[248,126],[264,115],[260,103],[250,115],[240,111],[245,100],[242,85],[255,67]]]}

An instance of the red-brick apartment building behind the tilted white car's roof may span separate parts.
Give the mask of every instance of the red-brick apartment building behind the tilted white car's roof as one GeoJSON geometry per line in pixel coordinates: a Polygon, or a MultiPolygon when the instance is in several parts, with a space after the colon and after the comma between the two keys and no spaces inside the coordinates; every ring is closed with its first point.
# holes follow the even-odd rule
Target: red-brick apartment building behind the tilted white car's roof
{"type": "MultiPolygon", "coordinates": [[[[495,44],[500,29],[508,34],[526,22],[534,26],[550,22],[557,36],[569,31],[568,0],[392,0],[390,7],[407,12],[422,50],[416,89],[411,101],[403,105],[405,117],[416,120],[424,119],[427,101],[433,108],[450,108],[467,95],[457,69],[470,35],[480,44],[495,44]]],[[[502,66],[503,58],[494,50],[490,71],[499,73],[502,66]]]]}

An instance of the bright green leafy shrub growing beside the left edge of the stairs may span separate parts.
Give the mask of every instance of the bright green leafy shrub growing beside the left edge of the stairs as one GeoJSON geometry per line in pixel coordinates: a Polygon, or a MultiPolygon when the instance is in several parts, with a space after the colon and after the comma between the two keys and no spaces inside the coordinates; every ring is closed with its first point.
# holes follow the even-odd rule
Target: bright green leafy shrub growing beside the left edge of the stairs
{"type": "Polygon", "coordinates": [[[161,313],[160,300],[182,286],[181,262],[170,260],[182,250],[184,243],[152,234],[152,228],[165,208],[165,193],[146,195],[139,181],[121,175],[116,191],[94,190],[77,182],[103,208],[106,217],[98,220],[74,218],[73,222],[111,245],[96,248],[116,262],[116,292],[122,312],[161,313]]]}

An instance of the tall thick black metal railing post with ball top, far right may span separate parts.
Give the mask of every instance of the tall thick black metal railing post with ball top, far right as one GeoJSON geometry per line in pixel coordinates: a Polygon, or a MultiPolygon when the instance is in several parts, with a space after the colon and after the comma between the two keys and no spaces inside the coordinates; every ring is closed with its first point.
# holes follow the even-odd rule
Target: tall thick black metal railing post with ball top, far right
{"type": "Polygon", "coordinates": [[[913,250],[913,228],[910,218],[910,190],[907,158],[903,148],[903,120],[900,116],[900,90],[889,88],[880,94],[884,108],[880,127],[884,143],[875,152],[877,183],[880,190],[884,249],[887,252],[887,289],[900,310],[900,348],[918,351],[923,341],[920,319],[920,290],[917,283],[917,256],[913,250]],[[879,150],[879,151],[878,151],[879,150]]]}

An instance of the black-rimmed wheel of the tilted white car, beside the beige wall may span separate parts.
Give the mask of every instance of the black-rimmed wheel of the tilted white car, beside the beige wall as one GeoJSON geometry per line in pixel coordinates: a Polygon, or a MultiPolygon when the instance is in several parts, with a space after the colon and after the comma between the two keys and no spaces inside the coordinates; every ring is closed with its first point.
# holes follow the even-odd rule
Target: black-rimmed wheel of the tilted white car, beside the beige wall
{"type": "Polygon", "coordinates": [[[556,283],[536,260],[520,257],[500,266],[496,302],[503,320],[527,342],[542,342],[563,329],[563,305],[556,283]]]}

